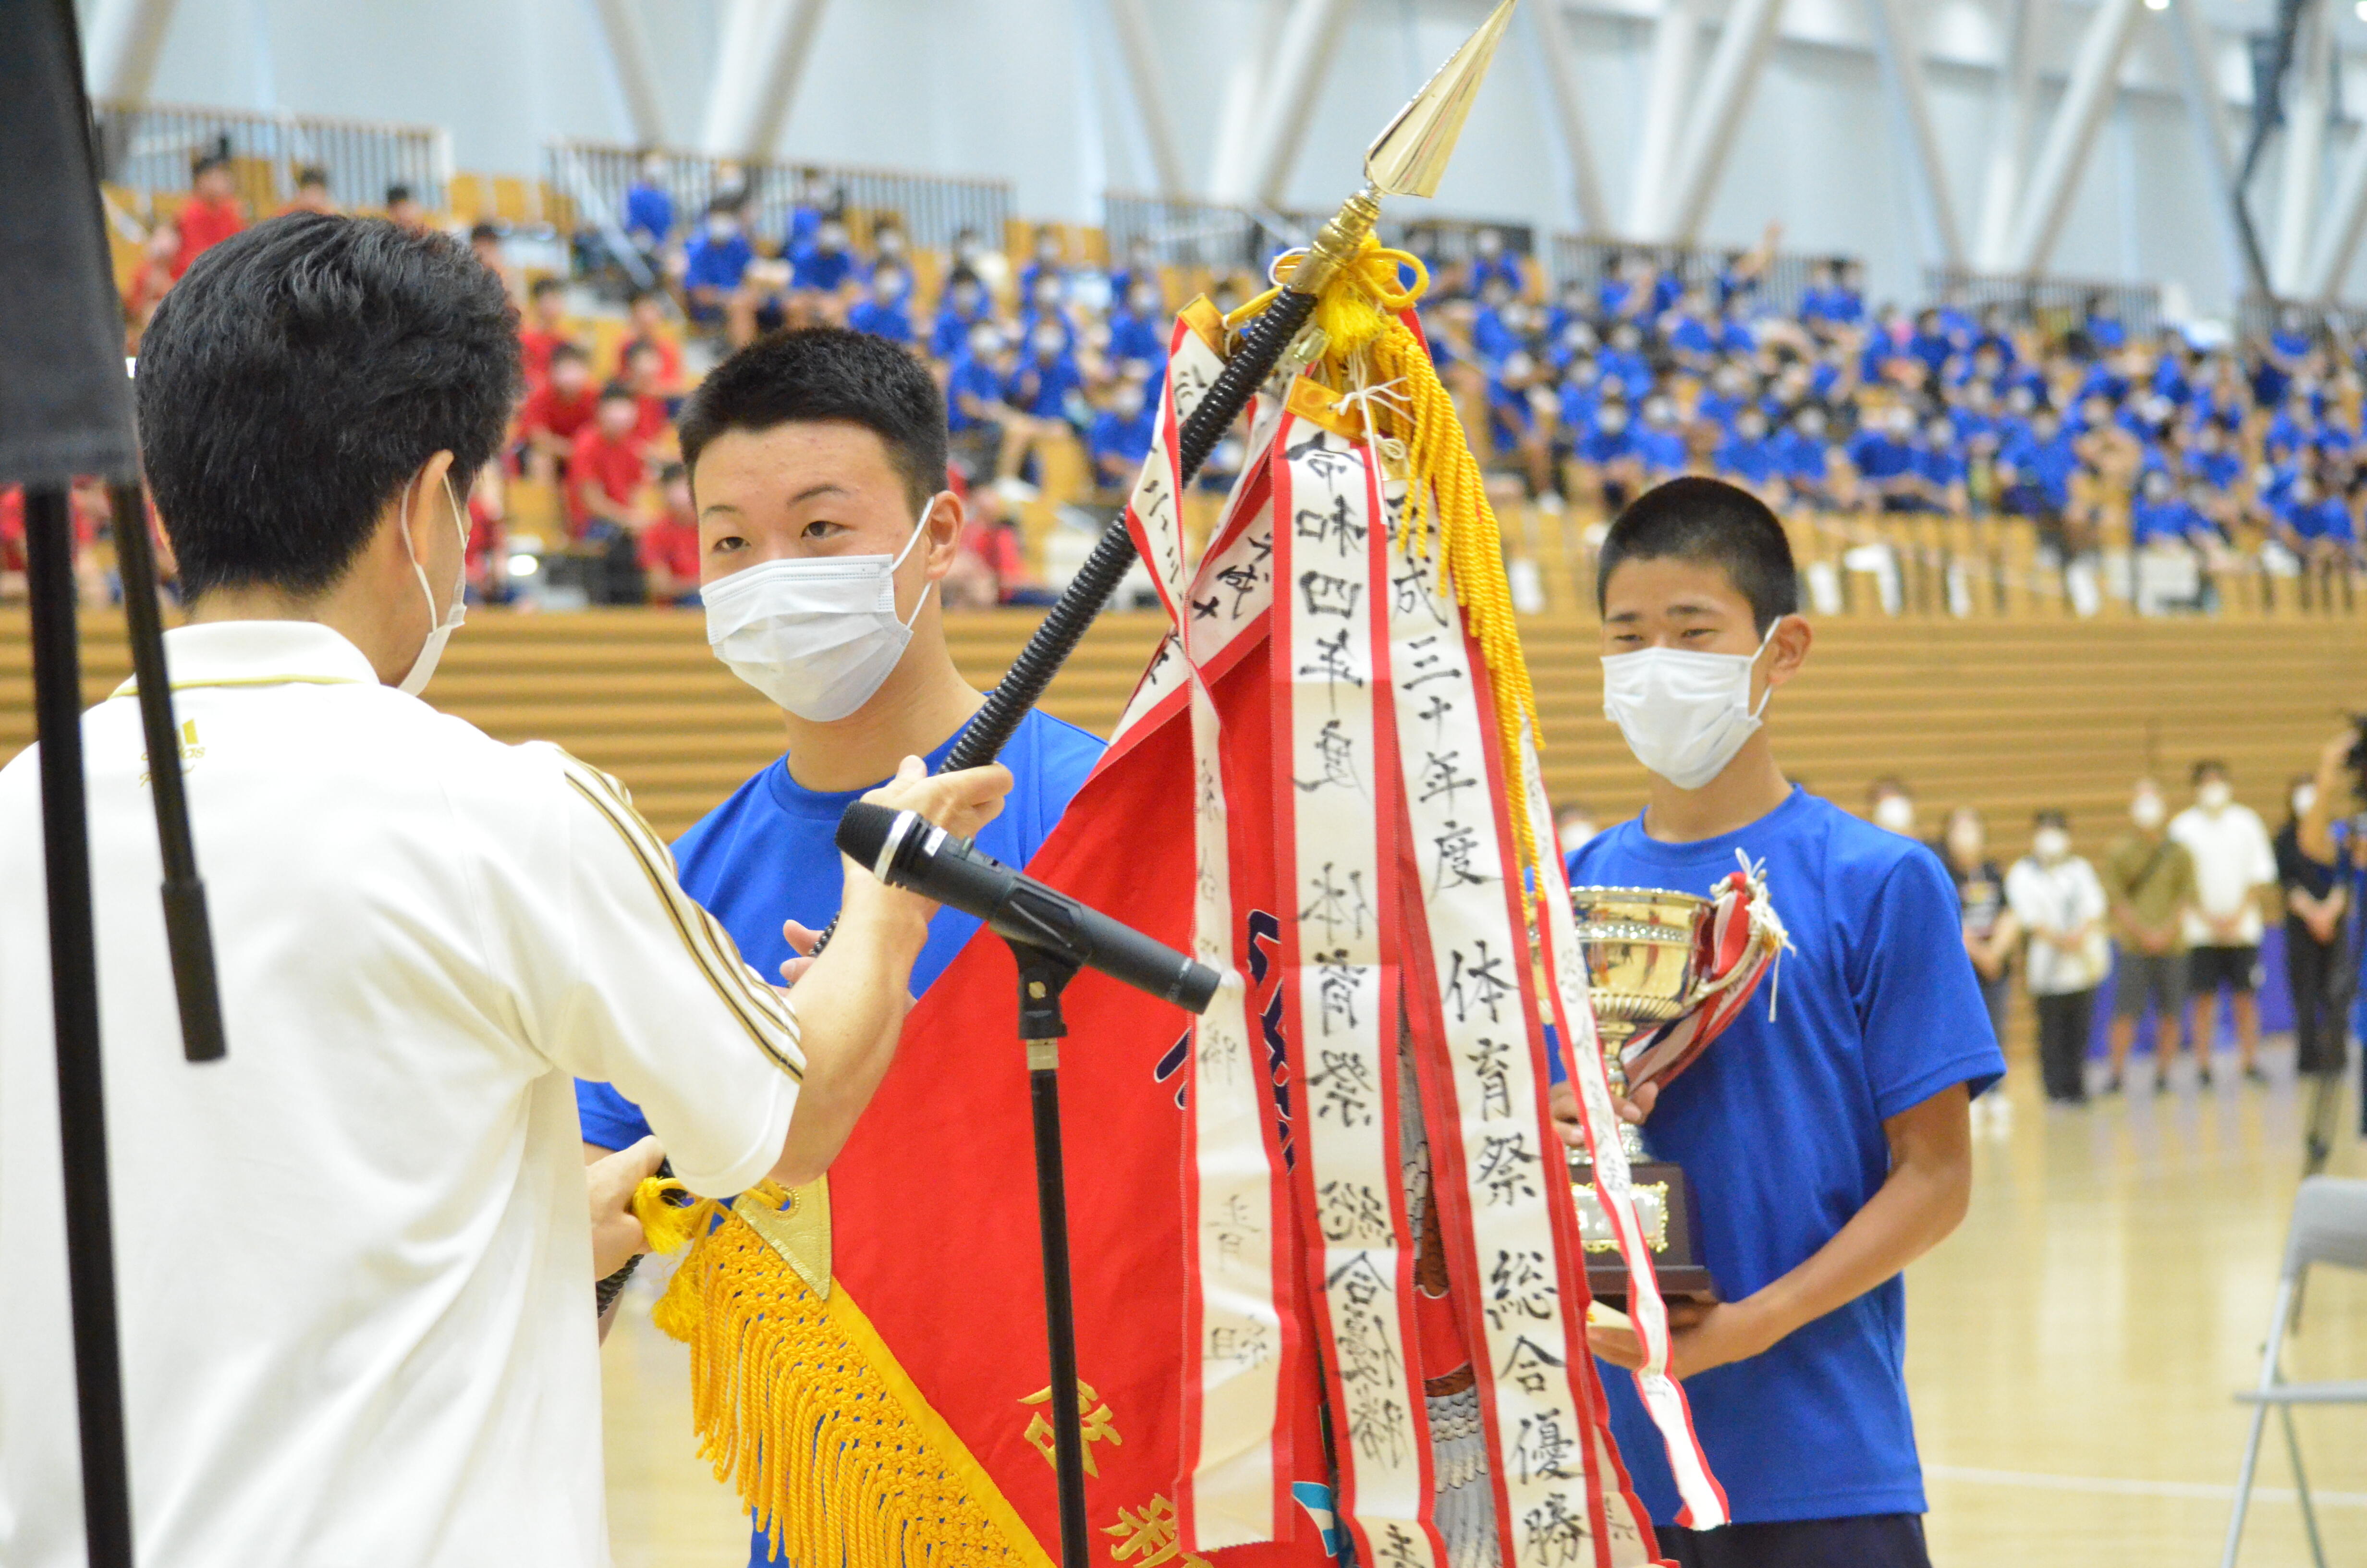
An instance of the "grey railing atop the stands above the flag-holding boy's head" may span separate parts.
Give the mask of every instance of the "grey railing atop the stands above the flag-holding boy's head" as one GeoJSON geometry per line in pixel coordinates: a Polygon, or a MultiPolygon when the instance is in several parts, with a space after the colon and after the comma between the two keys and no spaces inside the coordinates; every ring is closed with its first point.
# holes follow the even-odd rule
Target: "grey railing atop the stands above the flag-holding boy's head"
{"type": "MultiPolygon", "coordinates": [[[[552,142],[542,149],[549,182],[575,197],[585,220],[601,227],[623,223],[625,189],[641,173],[641,154],[639,147],[613,142],[552,142]]],[[[658,156],[665,159],[663,185],[675,199],[675,223],[684,227],[715,197],[741,189],[750,201],[755,237],[779,242],[788,230],[791,208],[805,199],[814,182],[831,187],[852,216],[895,213],[911,244],[935,251],[949,249],[963,230],[973,230],[987,249],[999,249],[1004,225],[1013,216],[1008,180],[909,175],[831,163],[750,163],[679,149],[658,149],[658,156]]]]}

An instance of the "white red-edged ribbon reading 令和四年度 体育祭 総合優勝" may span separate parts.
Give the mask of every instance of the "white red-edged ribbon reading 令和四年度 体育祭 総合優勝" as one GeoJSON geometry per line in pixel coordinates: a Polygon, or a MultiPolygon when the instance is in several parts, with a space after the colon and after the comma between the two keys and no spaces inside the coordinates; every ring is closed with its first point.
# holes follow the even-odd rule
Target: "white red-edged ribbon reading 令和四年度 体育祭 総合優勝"
{"type": "Polygon", "coordinates": [[[1399,1163],[1394,779],[1382,746],[1387,528],[1368,452],[1276,433],[1273,680],[1302,1191],[1321,1232],[1340,1521],[1370,1568],[1434,1568],[1430,1424],[1399,1163]]]}

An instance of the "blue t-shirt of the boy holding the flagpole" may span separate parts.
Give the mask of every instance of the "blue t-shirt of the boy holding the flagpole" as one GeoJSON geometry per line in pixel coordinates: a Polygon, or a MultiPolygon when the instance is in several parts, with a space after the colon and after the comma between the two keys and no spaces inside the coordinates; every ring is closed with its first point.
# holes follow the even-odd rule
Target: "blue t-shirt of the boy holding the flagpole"
{"type": "MultiPolygon", "coordinates": [[[[952,748],[947,737],[944,746],[928,753],[930,770],[952,748]]],[[[1004,746],[1011,793],[1001,815],[980,829],[978,848],[1004,865],[1027,865],[1096,760],[1096,737],[1030,711],[1004,746]]],[[[833,834],[840,812],[862,796],[862,789],[805,789],[788,777],[788,758],[781,758],[675,841],[682,891],[722,921],[741,957],[767,981],[779,981],[781,964],[791,959],[781,921],[821,931],[838,914],[845,865],[833,834]]],[[[914,995],[944,973],[973,933],[978,919],[959,910],[930,917],[928,943],[911,966],[914,995]]],[[[625,1149],[649,1137],[641,1108],[604,1082],[575,1080],[575,1111],[587,1144],[625,1149]]]]}

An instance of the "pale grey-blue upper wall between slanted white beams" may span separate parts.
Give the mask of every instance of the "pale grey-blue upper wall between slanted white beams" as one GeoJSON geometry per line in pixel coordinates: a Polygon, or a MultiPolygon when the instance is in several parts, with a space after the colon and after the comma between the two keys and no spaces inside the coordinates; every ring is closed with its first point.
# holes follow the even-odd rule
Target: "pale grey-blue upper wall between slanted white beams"
{"type": "MultiPolygon", "coordinates": [[[[92,0],[83,0],[85,9],[92,0]]],[[[694,142],[720,36],[720,0],[637,0],[670,140],[694,142]]],[[[1212,166],[1228,85],[1262,54],[1276,0],[1153,5],[1167,97],[1186,166],[1212,166]]],[[[1541,0],[1527,0],[1536,5],[1541,0]]],[[[1709,7],[1716,12],[1716,5],[1709,7]]],[[[2249,97],[2239,28],[2256,7],[2213,2],[2227,135],[2249,97]]],[[[1482,0],[1361,0],[1352,7],[1290,182],[1292,206],[1330,206],[1354,182],[1380,123],[1486,12],[1482,0]]],[[[1574,66],[1614,223],[1633,199],[1657,0],[1565,5],[1574,66]]],[[[1958,223],[1979,227],[1993,142],[1991,83],[2000,7],[1924,0],[1920,28],[1931,111],[1958,223]]],[[[2033,5],[2052,114],[2090,5],[2033,5]]],[[[2367,50],[2367,24],[2334,7],[2339,38],[2367,50]]],[[[1754,242],[1771,218],[1787,244],[1868,258],[1877,298],[1917,298],[1936,261],[1903,137],[1891,126],[1863,0],[1789,0],[1766,76],[1711,204],[1707,239],[1754,242]]],[[[1707,40],[1704,40],[1707,47],[1707,40]]],[[[2367,54],[2346,57],[2346,102],[2367,102],[2367,54]]],[[[1120,69],[1105,0],[836,0],[781,140],[793,159],[997,175],[1037,218],[1098,223],[1105,189],[1150,189],[1153,173],[1120,69]]],[[[1482,92],[1437,211],[1576,227],[1569,166],[1543,97],[1536,31],[1520,21],[1482,92]]],[[[445,126],[459,168],[535,173],[552,137],[630,140],[592,0],[180,0],[154,83],[159,102],[294,109],[445,126]]],[[[2040,135],[2045,126],[2040,123],[2040,135]]],[[[2355,135],[2343,121],[2327,152],[2355,135]]],[[[2256,180],[2272,234],[2277,149],[2256,180]]],[[[2324,199],[2324,197],[2322,197],[2324,199]]],[[[2097,135],[2052,270],[2175,284],[2201,313],[2232,303],[2232,251],[2197,137],[2178,97],[2166,14],[2140,19],[2123,92],[2097,135]]],[[[2346,296],[2367,296],[2367,263],[2346,296]]]]}

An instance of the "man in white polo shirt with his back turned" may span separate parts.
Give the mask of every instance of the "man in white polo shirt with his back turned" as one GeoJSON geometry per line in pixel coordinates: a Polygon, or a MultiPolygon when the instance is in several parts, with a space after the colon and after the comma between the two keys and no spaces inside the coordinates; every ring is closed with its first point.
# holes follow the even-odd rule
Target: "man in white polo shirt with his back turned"
{"type": "MultiPolygon", "coordinates": [[[[613,779],[417,699],[459,625],[459,488],[502,443],[514,315],[452,237],[298,213],[204,256],[140,358],[189,602],[163,763],[189,782],[230,1040],[180,1059],[125,687],[83,746],[151,1568],[606,1563],[570,1075],[644,1094],[694,1191],[810,1182],[909,1007],[925,902],[857,876],[783,997],[613,779]]],[[[66,1568],[85,1542],[36,775],[31,751],[0,770],[0,1561],[66,1568]]],[[[909,763],[883,798],[975,831],[1006,784],[909,763]]]]}

